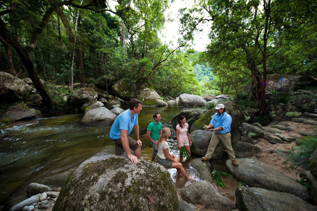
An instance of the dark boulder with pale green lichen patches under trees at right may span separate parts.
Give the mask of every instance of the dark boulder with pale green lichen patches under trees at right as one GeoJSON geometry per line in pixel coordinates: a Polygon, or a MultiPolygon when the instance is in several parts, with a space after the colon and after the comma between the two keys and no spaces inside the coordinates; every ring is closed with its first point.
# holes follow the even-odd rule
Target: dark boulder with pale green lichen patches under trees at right
{"type": "Polygon", "coordinates": [[[290,104],[272,104],[269,116],[277,121],[290,121],[294,117],[301,117],[301,112],[298,112],[294,105],[290,104]]]}

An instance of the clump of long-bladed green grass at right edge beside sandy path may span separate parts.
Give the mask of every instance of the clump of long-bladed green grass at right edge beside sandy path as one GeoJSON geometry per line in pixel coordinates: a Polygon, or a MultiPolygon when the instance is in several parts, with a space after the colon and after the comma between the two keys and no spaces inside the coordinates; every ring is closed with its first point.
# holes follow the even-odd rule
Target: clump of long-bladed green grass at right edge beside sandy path
{"type": "Polygon", "coordinates": [[[317,136],[306,136],[298,140],[299,146],[288,150],[286,163],[291,163],[291,167],[297,168],[301,164],[308,164],[312,153],[317,149],[317,136]]]}

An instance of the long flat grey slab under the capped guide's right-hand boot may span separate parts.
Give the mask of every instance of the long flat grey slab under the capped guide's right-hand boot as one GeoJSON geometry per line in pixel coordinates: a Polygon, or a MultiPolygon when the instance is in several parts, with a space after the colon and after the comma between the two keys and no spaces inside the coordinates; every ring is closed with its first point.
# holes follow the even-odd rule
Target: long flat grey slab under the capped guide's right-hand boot
{"type": "Polygon", "coordinates": [[[305,186],[267,164],[248,158],[236,160],[239,166],[233,166],[231,160],[227,160],[225,165],[235,179],[244,182],[249,187],[290,193],[305,201],[310,200],[305,186]]]}

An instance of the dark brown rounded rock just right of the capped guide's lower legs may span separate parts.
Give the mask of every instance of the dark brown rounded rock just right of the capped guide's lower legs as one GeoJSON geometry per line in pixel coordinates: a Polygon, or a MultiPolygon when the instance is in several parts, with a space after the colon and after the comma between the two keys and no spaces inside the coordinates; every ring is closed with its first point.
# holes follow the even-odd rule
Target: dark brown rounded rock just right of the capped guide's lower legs
{"type": "Polygon", "coordinates": [[[232,149],[236,158],[252,157],[261,152],[260,147],[242,141],[232,143],[232,149]]]}

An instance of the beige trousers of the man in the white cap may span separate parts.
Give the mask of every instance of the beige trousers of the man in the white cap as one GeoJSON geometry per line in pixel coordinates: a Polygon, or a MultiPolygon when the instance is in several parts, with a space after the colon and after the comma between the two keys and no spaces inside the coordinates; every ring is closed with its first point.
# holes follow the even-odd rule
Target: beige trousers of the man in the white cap
{"type": "Polygon", "coordinates": [[[205,156],[210,159],[212,156],[212,153],[214,153],[214,151],[216,149],[218,142],[221,141],[224,148],[227,150],[227,153],[229,155],[229,159],[234,160],[236,157],[235,157],[235,153],[233,152],[233,149],[231,146],[230,137],[231,137],[230,132],[226,133],[226,134],[219,134],[219,133],[214,132],[214,134],[211,137],[209,147],[208,147],[208,150],[207,150],[207,153],[205,156]]]}

